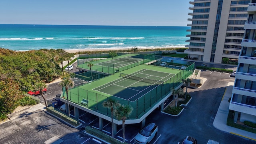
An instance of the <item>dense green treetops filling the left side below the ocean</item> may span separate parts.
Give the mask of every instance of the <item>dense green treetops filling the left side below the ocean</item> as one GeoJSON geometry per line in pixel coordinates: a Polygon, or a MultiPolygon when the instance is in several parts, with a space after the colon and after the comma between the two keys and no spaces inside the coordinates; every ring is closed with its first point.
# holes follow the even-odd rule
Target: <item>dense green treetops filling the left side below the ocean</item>
{"type": "Polygon", "coordinates": [[[18,52],[0,48],[0,120],[24,101],[24,93],[32,90],[36,82],[62,76],[59,64],[72,56],[62,49],[18,52]]]}

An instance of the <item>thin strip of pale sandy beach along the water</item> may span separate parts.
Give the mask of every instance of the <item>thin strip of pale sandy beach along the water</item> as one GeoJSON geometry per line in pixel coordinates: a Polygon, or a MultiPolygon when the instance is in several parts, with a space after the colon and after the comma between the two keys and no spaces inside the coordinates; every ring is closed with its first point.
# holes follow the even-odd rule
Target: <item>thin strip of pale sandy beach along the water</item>
{"type": "MultiPolygon", "coordinates": [[[[185,46],[177,46],[177,47],[164,47],[164,48],[138,48],[140,49],[169,49],[169,48],[186,48],[185,46]]],[[[98,49],[68,49],[65,50],[68,53],[77,53],[77,52],[92,52],[92,51],[108,51],[108,50],[130,50],[131,48],[98,48],[98,49]]]]}

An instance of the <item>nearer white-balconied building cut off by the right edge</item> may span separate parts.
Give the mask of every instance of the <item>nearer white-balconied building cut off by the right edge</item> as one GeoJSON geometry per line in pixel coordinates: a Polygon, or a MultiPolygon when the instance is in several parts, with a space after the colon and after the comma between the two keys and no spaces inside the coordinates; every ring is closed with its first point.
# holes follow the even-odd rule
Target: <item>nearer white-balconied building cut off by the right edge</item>
{"type": "Polygon", "coordinates": [[[250,0],[247,11],[229,109],[235,111],[234,122],[256,123],[256,0],[250,0]]]}

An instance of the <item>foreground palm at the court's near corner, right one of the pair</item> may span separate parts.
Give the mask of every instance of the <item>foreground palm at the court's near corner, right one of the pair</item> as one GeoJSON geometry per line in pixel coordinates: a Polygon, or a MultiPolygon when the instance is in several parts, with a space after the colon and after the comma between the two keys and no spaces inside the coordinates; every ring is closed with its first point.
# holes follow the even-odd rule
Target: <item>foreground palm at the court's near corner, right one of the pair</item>
{"type": "Polygon", "coordinates": [[[125,123],[125,120],[128,118],[128,116],[130,116],[130,114],[132,113],[132,110],[133,108],[130,105],[119,105],[114,111],[114,115],[116,116],[116,118],[118,120],[122,120],[124,142],[125,142],[124,123],[125,123]]]}

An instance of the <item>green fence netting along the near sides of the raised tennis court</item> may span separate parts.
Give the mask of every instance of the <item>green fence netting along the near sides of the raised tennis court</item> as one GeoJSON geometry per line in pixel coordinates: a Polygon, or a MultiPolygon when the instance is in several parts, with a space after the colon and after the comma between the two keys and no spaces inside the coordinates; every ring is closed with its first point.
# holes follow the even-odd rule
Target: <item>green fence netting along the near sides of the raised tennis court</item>
{"type": "MultiPolygon", "coordinates": [[[[116,96],[106,96],[101,92],[92,92],[90,90],[86,90],[82,87],[71,88],[68,90],[68,99],[70,102],[78,104],[80,106],[84,106],[93,110],[95,112],[99,112],[101,114],[107,115],[111,117],[111,112],[109,108],[103,107],[102,103],[108,98],[112,98],[118,101],[120,104],[130,105],[133,108],[132,114],[129,116],[129,120],[138,119],[143,116],[148,110],[150,110],[153,106],[155,106],[158,102],[160,102],[163,98],[165,98],[168,94],[171,93],[172,88],[177,88],[181,84],[183,84],[182,79],[186,79],[191,76],[194,72],[194,63],[188,66],[185,70],[181,70],[178,74],[170,77],[168,80],[164,81],[161,85],[154,87],[152,90],[147,92],[146,94],[140,96],[137,99],[123,99],[116,96]],[[85,100],[87,102],[84,105],[81,101],[85,100]]],[[[66,99],[66,90],[62,88],[62,98],[66,99]]],[[[132,96],[131,96],[132,97],[132,96]]]]}

